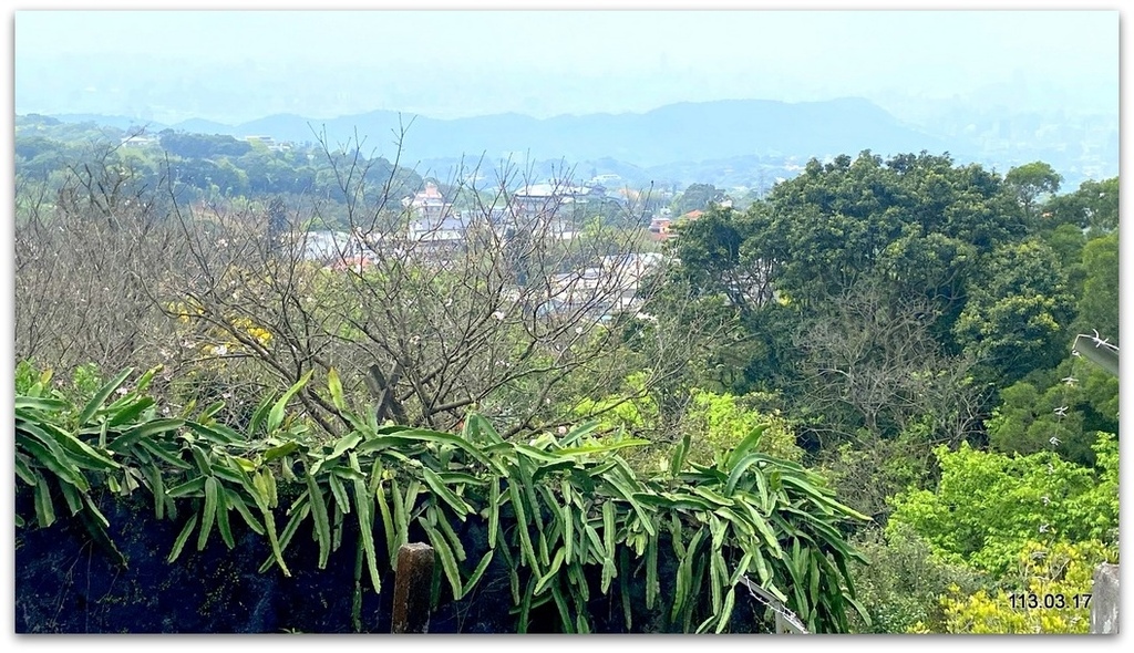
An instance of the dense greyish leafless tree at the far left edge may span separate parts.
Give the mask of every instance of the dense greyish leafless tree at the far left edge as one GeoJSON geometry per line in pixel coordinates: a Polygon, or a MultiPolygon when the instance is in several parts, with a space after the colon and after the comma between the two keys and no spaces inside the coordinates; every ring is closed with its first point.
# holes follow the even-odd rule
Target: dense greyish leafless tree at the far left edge
{"type": "Polygon", "coordinates": [[[146,287],[178,247],[164,206],[115,156],[96,146],[56,185],[17,177],[15,349],[67,371],[156,362],[166,320],[146,287]]]}

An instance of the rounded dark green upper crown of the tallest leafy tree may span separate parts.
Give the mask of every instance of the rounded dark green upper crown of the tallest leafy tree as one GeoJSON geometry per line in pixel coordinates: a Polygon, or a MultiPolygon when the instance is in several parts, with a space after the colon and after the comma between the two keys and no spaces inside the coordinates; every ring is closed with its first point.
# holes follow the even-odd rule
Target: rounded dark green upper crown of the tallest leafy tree
{"type": "Polygon", "coordinates": [[[948,155],[863,152],[821,164],[768,195],[770,220],[753,234],[784,244],[778,290],[821,304],[862,279],[888,275],[900,294],[955,302],[960,273],[1025,234],[1021,211],[995,173],[954,167],[948,155]]]}

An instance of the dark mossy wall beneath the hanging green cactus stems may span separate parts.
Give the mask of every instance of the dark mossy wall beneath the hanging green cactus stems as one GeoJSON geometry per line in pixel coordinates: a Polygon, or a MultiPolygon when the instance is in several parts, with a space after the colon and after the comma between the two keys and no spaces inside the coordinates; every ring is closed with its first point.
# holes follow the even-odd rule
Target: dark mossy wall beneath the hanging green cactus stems
{"type": "MultiPolygon", "coordinates": [[[[158,520],[144,493],[132,498],[105,497],[101,509],[110,521],[110,536],[127,560],[127,568],[115,565],[101,551],[77,519],[61,516],[49,528],[25,526],[16,531],[17,633],[353,633],[352,608],[355,600],[355,559],[357,524],[346,516],[340,548],[332,552],[325,569],[318,569],[318,545],[307,528],[301,528],[285,551],[291,571],[284,576],[272,566],[263,574],[260,566],[270,556],[264,537],[239,528],[243,520],[231,520],[236,548],[225,546],[215,531],[203,551],[196,550],[196,535],[186,543],[174,563],[166,559],[181,527],[181,520],[158,520]],[[136,499],[134,498],[136,497],[136,499]]],[[[34,515],[29,497],[17,495],[17,511],[34,515]]],[[[184,518],[184,516],[183,516],[184,518]]],[[[282,528],[282,510],[277,524],[282,528]]],[[[468,519],[457,533],[465,543],[469,573],[484,551],[484,524],[468,519]]],[[[412,538],[428,542],[424,533],[412,538]]],[[[381,528],[375,533],[379,569],[386,554],[381,528]]],[[[676,560],[668,544],[659,556],[661,600],[672,596],[676,560]],[[665,553],[670,553],[666,556],[665,553]]],[[[439,573],[440,563],[437,566],[439,573]]],[[[526,571],[526,570],[525,570],[526,571]]],[[[609,595],[599,592],[599,569],[591,578],[592,628],[596,633],[626,633],[619,582],[609,595]]],[[[661,610],[645,610],[644,570],[629,579],[633,627],[631,631],[675,631],[661,610]]],[[[523,578],[523,576],[522,576],[523,578]]],[[[389,633],[392,613],[393,573],[382,577],[382,591],[375,593],[363,575],[361,631],[389,633]]],[[[523,583],[523,580],[522,580],[523,583]]],[[[523,585],[522,585],[523,586],[523,585]]],[[[510,613],[508,571],[502,556],[492,563],[476,590],[459,602],[451,600],[448,583],[440,584],[438,604],[430,617],[430,633],[515,633],[516,614],[510,613]]],[[[704,597],[708,601],[708,596],[704,597]]],[[[763,609],[745,592],[737,592],[733,630],[764,631],[763,609]]],[[[559,631],[559,613],[553,602],[534,608],[528,631],[559,631]]]]}

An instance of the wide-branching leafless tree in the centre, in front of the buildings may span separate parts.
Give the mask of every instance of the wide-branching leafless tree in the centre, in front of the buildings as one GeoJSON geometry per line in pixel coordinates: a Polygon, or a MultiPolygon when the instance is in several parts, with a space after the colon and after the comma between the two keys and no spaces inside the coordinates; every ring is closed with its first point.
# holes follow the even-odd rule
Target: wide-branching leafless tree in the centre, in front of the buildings
{"type": "MultiPolygon", "coordinates": [[[[533,180],[507,161],[477,186],[482,161],[454,184],[475,211],[423,217],[393,195],[397,159],[375,179],[357,139],[323,150],[346,205],[337,237],[304,227],[318,214],[293,211],[291,229],[268,238],[263,215],[174,211],[191,256],[160,304],[203,339],[222,333],[230,346],[218,355],[254,361],[264,382],[335,368],[380,419],[451,429],[475,408],[519,434],[579,419],[579,398],[627,393],[635,372],[646,382],[634,392],[651,391],[710,337],[637,314],[654,290],[646,272],[666,264],[641,254],[645,221],[584,226],[587,198],[566,175],[535,202],[517,193],[533,180]],[[201,229],[206,219],[217,229],[201,229]]],[[[336,427],[318,384],[301,399],[336,427]]]]}

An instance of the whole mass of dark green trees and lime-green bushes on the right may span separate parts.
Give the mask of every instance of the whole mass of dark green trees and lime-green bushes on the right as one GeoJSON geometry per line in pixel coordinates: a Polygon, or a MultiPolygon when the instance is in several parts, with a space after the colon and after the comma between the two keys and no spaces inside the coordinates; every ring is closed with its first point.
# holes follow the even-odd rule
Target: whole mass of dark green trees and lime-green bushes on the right
{"type": "Polygon", "coordinates": [[[702,378],[777,397],[805,463],[889,524],[858,573],[875,629],[995,629],[962,597],[997,596],[1029,542],[1111,542],[1118,379],[1070,345],[1117,338],[1117,179],[1060,181],[864,152],[672,243],[671,282],[734,325],[702,378]]]}

